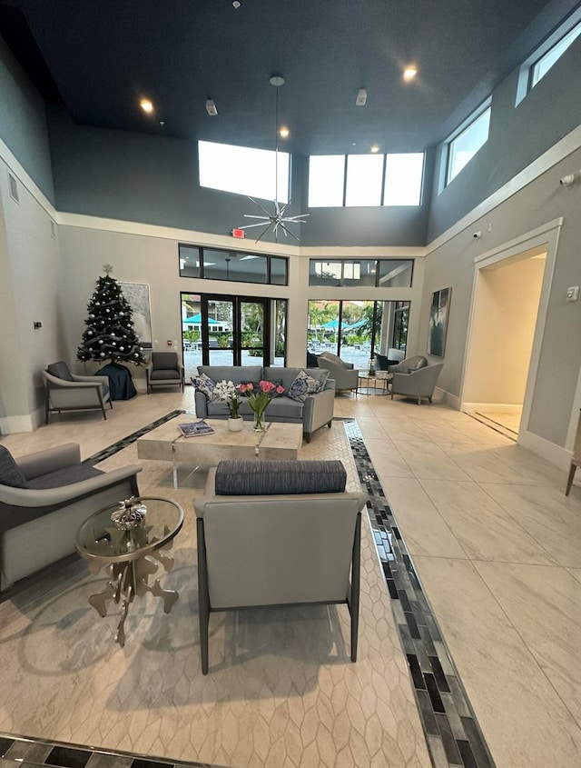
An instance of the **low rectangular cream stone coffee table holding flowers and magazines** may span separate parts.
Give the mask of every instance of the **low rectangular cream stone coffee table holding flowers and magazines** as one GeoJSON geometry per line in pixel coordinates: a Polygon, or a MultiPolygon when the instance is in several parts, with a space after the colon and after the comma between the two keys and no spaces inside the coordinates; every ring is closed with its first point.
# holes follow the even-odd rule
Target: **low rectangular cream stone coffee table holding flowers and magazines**
{"type": "Polygon", "coordinates": [[[225,419],[204,419],[214,432],[183,437],[178,424],[196,421],[183,414],[158,426],[137,440],[140,459],[172,462],[173,487],[178,487],[178,465],[215,466],[222,459],[297,459],[302,444],[302,424],[267,422],[264,432],[254,432],[253,422],[242,424],[241,432],[230,432],[225,419]]]}

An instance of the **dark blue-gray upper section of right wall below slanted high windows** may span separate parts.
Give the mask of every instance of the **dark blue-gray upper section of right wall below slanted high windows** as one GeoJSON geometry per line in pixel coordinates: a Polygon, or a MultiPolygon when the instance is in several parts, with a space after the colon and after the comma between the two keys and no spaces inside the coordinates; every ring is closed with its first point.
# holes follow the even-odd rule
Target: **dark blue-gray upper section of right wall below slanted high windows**
{"type": "Polygon", "coordinates": [[[487,143],[439,194],[438,148],[428,243],[581,124],[581,38],[515,106],[517,79],[515,70],[494,92],[487,143]]]}

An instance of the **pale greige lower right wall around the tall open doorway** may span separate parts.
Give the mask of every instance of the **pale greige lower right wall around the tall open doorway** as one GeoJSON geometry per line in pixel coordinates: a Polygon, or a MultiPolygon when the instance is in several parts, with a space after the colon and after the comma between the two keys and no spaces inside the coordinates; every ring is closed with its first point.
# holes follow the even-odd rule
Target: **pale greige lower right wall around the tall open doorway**
{"type": "MultiPolygon", "coordinates": [[[[557,445],[566,441],[581,368],[581,301],[565,299],[566,288],[581,282],[581,185],[563,187],[559,178],[579,168],[581,149],[429,254],[422,307],[421,325],[427,328],[431,293],[452,287],[445,365],[438,386],[458,396],[475,258],[563,216],[529,424],[530,431],[557,445]],[[475,241],[472,232],[478,229],[483,235],[475,241]]],[[[490,375],[502,375],[502,371],[490,371],[490,375]]]]}

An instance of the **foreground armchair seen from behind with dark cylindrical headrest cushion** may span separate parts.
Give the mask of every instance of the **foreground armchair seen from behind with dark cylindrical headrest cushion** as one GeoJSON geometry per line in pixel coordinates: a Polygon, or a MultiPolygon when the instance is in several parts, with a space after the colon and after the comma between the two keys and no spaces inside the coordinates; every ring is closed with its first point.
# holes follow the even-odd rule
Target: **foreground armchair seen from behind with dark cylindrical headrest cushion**
{"type": "Polygon", "coordinates": [[[197,517],[202,673],[214,611],[347,603],[357,660],[361,509],[340,462],[222,461],[197,517]]]}

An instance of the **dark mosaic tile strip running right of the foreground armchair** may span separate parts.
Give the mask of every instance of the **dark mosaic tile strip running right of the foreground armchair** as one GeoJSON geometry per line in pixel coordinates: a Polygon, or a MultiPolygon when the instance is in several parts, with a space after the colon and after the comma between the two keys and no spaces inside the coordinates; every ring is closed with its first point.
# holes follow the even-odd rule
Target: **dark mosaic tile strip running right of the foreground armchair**
{"type": "Polygon", "coordinates": [[[399,526],[371,464],[359,426],[344,419],[359,482],[370,497],[369,524],[399,640],[408,659],[428,751],[435,766],[494,768],[468,696],[419,583],[399,526]],[[441,755],[446,755],[446,763],[441,755]]]}

